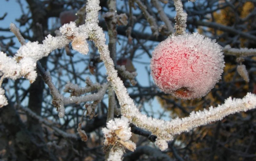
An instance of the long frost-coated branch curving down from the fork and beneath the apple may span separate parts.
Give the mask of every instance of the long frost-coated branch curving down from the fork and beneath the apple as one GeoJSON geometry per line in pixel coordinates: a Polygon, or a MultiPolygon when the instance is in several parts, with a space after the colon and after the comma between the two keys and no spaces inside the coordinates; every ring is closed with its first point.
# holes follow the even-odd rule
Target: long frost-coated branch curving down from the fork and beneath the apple
{"type": "MultiPolygon", "coordinates": [[[[95,6],[94,8],[97,7],[95,6]]],[[[98,26],[94,28],[94,31],[94,34],[103,34],[102,29],[98,26]]],[[[244,99],[228,99],[225,104],[223,104],[222,106],[218,106],[218,108],[210,108],[209,111],[205,110],[203,112],[197,112],[195,114],[191,113],[190,117],[175,119],[171,122],[148,118],[147,116],[142,115],[138,111],[133,103],[133,100],[129,97],[127,90],[123,85],[123,82],[120,80],[119,77],[117,77],[117,71],[114,69],[114,63],[109,56],[109,51],[107,49],[107,46],[105,45],[104,37],[93,35],[89,38],[94,41],[95,46],[99,50],[101,59],[103,60],[107,69],[107,79],[109,82],[112,83],[113,89],[115,90],[117,98],[119,100],[122,115],[127,117],[136,126],[147,129],[155,134],[158,137],[156,140],[156,145],[158,145],[162,150],[168,147],[166,141],[172,140],[173,135],[179,134],[184,131],[189,131],[194,127],[205,125],[212,121],[222,119],[224,116],[229,115],[233,112],[246,111],[255,108],[256,102],[252,100],[255,100],[256,96],[253,94],[248,94],[246,97],[244,97],[244,99]]]]}

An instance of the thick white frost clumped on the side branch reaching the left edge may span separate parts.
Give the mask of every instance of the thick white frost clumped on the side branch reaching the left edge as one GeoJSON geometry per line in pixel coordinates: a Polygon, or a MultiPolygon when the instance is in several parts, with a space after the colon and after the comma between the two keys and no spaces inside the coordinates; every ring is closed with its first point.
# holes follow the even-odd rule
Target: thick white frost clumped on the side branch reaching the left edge
{"type": "Polygon", "coordinates": [[[5,78],[18,79],[26,77],[30,82],[34,82],[37,77],[35,68],[37,60],[47,56],[54,49],[62,48],[69,42],[62,37],[52,37],[48,35],[43,44],[38,42],[27,42],[22,45],[15,56],[8,57],[5,53],[0,53],[0,72],[5,78]]]}

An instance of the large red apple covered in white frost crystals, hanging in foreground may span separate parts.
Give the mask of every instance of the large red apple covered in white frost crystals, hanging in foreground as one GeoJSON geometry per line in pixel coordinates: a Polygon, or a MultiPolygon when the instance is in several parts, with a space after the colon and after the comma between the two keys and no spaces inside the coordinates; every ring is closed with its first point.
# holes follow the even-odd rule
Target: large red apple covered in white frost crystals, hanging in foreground
{"type": "Polygon", "coordinates": [[[224,66],[221,46],[198,33],[172,35],[160,42],[150,63],[156,86],[182,99],[205,96],[221,78],[224,66]]]}

